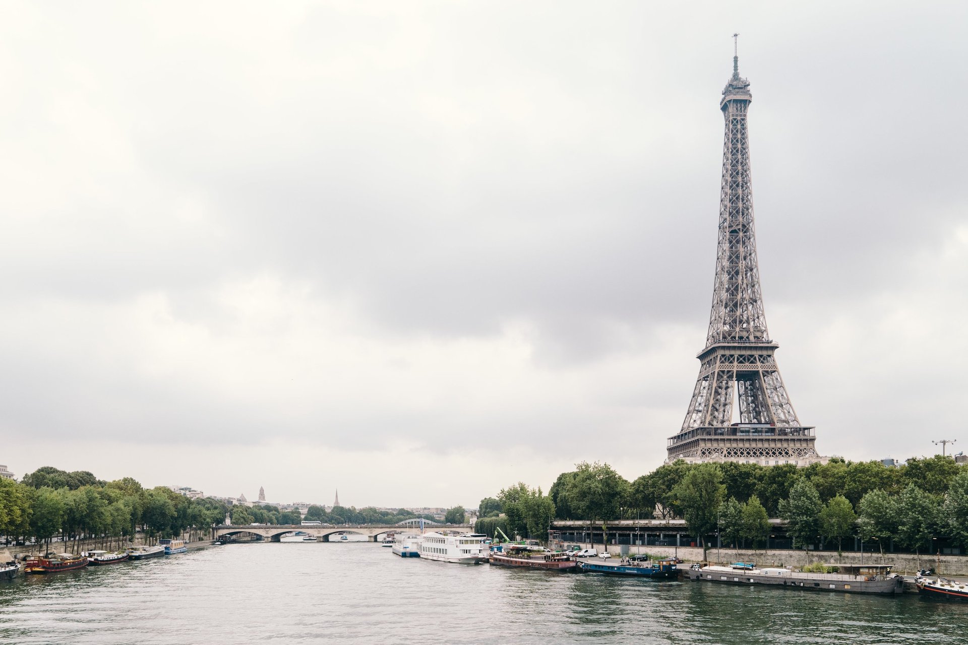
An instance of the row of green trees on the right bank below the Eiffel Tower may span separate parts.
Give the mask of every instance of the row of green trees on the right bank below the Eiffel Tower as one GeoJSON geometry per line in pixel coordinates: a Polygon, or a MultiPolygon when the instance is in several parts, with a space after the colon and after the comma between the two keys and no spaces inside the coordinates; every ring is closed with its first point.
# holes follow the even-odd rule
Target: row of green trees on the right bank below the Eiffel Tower
{"type": "Polygon", "coordinates": [[[858,536],[882,551],[891,541],[920,551],[932,538],[968,547],[968,469],[942,455],[900,467],[837,458],[805,468],[680,460],[628,482],[608,464],[583,462],[547,495],[519,483],[481,500],[480,517],[506,517],[510,531],[535,538],[546,537],[552,518],[601,522],[606,540],[612,519],[681,517],[704,545],[703,536],[718,532],[754,548],[770,535],[769,518],[781,517],[795,546],[839,549],[858,536]]]}

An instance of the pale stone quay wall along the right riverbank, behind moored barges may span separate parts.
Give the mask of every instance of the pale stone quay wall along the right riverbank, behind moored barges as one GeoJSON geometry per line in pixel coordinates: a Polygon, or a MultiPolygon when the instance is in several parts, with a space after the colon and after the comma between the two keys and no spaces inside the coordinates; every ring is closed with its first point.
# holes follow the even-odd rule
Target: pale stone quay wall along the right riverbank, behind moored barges
{"type": "MultiPolygon", "coordinates": [[[[602,544],[580,543],[582,548],[597,548],[602,552],[602,544]]],[[[703,549],[698,546],[617,546],[609,544],[608,551],[613,557],[623,555],[621,549],[628,549],[628,555],[638,553],[649,553],[658,556],[679,556],[686,562],[701,562],[703,559],[703,549]]],[[[836,551],[803,551],[802,549],[773,549],[773,550],[752,550],[736,548],[711,548],[706,551],[706,556],[712,563],[730,562],[755,562],[761,567],[803,567],[813,563],[822,564],[843,564],[843,565],[862,565],[862,564],[889,564],[893,565],[894,572],[904,575],[914,575],[922,569],[933,567],[936,572],[943,575],[968,575],[968,556],[964,555],[922,555],[917,556],[913,553],[886,553],[881,559],[880,553],[855,553],[844,552],[838,555],[836,551]]]]}

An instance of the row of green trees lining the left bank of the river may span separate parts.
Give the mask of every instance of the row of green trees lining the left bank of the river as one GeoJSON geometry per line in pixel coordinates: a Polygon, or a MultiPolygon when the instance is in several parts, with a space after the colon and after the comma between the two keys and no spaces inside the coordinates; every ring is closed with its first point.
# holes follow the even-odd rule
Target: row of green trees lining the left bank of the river
{"type": "Polygon", "coordinates": [[[23,482],[0,480],[0,535],[8,541],[32,537],[49,543],[101,540],[126,542],[140,530],[149,537],[190,539],[220,523],[227,507],[211,499],[190,500],[164,486],[145,489],[126,477],[102,482],[86,471],[45,466],[23,482]]]}

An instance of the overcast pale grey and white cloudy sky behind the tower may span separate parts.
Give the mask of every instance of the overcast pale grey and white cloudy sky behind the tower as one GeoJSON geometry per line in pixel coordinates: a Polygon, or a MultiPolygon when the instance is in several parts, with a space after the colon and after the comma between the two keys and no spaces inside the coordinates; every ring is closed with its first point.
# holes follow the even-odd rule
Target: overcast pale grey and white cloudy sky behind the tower
{"type": "Polygon", "coordinates": [[[0,463],[476,505],[682,422],[734,31],[822,454],[968,448],[962,2],[0,8],[0,463]]]}

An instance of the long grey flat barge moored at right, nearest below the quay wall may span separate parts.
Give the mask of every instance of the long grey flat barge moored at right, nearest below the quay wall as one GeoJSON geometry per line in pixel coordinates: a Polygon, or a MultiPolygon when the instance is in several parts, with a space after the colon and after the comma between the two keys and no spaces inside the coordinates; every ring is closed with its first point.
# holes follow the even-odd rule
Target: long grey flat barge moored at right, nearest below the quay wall
{"type": "Polygon", "coordinates": [[[848,594],[902,594],[904,578],[891,572],[892,565],[829,565],[836,573],[798,572],[767,567],[699,567],[685,571],[690,580],[728,584],[766,584],[807,591],[836,591],[848,594]]]}

